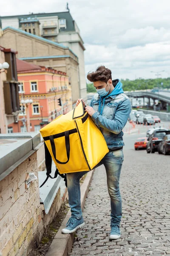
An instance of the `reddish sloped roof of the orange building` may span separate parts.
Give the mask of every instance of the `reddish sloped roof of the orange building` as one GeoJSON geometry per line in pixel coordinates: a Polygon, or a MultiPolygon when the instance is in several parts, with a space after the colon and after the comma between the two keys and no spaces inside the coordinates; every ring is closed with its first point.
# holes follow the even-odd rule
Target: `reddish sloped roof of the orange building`
{"type": "Polygon", "coordinates": [[[32,73],[32,72],[41,72],[42,69],[38,65],[31,64],[26,61],[22,61],[16,58],[17,61],[17,73],[32,73]]]}

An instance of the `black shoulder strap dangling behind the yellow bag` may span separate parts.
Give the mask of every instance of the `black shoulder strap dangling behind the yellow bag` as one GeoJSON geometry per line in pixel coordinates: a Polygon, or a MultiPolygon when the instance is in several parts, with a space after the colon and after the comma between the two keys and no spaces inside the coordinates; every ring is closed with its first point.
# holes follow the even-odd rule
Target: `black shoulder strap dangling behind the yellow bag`
{"type": "Polygon", "coordinates": [[[52,157],[51,154],[46,146],[46,144],[44,143],[44,147],[45,147],[45,166],[46,166],[46,179],[45,181],[42,183],[42,185],[40,186],[40,188],[47,182],[48,178],[50,177],[51,179],[57,178],[57,175],[61,176],[62,178],[64,178],[65,181],[65,186],[67,187],[67,177],[66,174],[60,174],[57,167],[56,167],[56,171],[54,174],[54,177],[52,177],[51,174],[51,166],[52,166],[52,157]]]}

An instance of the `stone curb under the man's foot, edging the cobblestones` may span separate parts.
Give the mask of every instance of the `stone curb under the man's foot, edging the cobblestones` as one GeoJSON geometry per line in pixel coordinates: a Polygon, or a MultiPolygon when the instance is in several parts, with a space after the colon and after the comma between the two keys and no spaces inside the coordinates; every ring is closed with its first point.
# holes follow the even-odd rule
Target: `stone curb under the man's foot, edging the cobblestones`
{"type": "MultiPolygon", "coordinates": [[[[91,172],[88,172],[87,176],[85,177],[84,182],[80,186],[81,190],[81,207],[82,209],[85,206],[85,200],[86,196],[88,194],[88,189],[91,184],[91,180],[93,177],[94,170],[91,172]]],[[[62,221],[62,225],[59,228],[56,236],[54,236],[54,239],[45,254],[45,256],[67,256],[68,253],[71,250],[73,241],[74,241],[74,233],[71,234],[62,234],[62,229],[66,226],[66,223],[68,219],[71,217],[71,210],[68,211],[67,215],[65,216],[65,219],[62,221]]]]}

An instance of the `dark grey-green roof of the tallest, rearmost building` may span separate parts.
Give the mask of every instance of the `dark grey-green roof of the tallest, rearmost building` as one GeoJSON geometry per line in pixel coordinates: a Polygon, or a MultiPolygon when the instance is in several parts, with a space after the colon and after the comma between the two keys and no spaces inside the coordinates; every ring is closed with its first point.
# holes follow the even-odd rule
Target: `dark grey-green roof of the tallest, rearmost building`
{"type": "Polygon", "coordinates": [[[59,19],[66,19],[67,22],[67,28],[64,31],[75,31],[74,27],[74,20],[70,14],[70,12],[51,12],[51,13],[31,13],[28,15],[14,15],[14,16],[0,16],[0,27],[1,27],[1,20],[2,19],[13,19],[18,18],[18,22],[20,22],[21,19],[32,17],[32,18],[38,18],[38,17],[50,17],[50,16],[58,16],[59,19]]]}

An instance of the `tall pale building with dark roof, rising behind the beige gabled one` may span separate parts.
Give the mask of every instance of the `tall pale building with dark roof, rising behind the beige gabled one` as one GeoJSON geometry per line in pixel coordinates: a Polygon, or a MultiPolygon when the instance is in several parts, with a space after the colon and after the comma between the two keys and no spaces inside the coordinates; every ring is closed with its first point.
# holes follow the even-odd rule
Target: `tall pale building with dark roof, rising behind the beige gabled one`
{"type": "MultiPolygon", "coordinates": [[[[69,9],[67,12],[1,16],[0,28],[6,30],[9,26],[69,47],[78,57],[77,79],[79,82],[79,96],[85,99],[85,101],[87,100],[84,61],[85,47],[80,30],[72,18],[69,9]]],[[[29,57],[32,56],[30,55],[29,57]]],[[[57,66],[61,70],[61,66],[59,64],[57,66]]],[[[74,99],[73,96],[72,98],[74,99]]]]}

